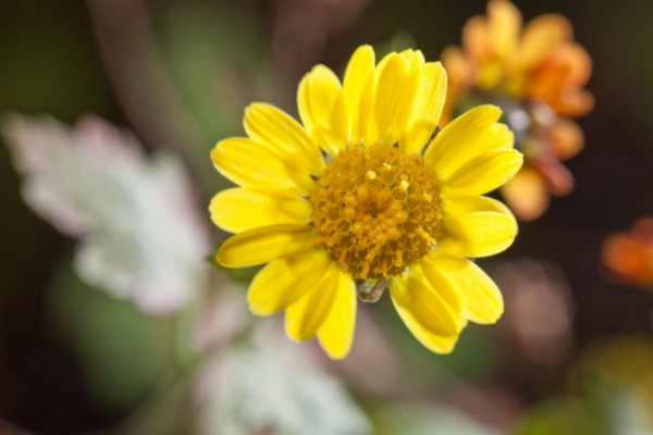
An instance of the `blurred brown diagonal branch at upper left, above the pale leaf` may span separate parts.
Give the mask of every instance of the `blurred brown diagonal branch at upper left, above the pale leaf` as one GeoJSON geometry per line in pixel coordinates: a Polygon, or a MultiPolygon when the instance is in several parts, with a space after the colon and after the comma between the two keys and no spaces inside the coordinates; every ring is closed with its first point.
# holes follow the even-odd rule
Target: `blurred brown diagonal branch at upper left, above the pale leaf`
{"type": "Polygon", "coordinates": [[[167,74],[145,3],[87,0],[87,4],[109,79],[143,141],[150,148],[176,149],[194,170],[210,166],[194,161],[182,146],[209,139],[202,137],[167,74]]]}

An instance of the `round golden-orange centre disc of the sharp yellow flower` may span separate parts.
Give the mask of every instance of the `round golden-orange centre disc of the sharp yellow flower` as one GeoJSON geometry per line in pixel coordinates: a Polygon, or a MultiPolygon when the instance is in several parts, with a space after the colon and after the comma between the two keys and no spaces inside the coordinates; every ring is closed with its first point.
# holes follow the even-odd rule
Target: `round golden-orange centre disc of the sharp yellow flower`
{"type": "Polygon", "coordinates": [[[331,160],[309,198],[321,246],[355,278],[404,272],[434,243],[441,182],[420,154],[355,146],[331,160]]]}

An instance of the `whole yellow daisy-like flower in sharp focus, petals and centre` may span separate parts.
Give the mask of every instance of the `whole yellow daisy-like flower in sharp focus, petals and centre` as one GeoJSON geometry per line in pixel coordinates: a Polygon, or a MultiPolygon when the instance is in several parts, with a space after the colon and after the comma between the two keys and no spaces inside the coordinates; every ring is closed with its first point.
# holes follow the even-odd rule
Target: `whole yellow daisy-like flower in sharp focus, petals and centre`
{"type": "Polygon", "coordinates": [[[210,212],[235,233],[218,252],[221,264],[268,263],[249,287],[255,314],[285,309],[288,336],[317,335],[332,358],[349,351],[357,288],[374,284],[387,282],[407,327],[435,352],[449,352],[467,321],[501,316],[501,293],[468,258],[513,243],[514,216],[482,195],[522,157],[492,105],[432,138],[445,95],[439,62],[407,50],[375,65],[362,46],[342,85],[323,65],[301,79],[303,125],[266,103],[246,109],[248,137],[211,152],[241,187],[218,194],[210,212]]]}

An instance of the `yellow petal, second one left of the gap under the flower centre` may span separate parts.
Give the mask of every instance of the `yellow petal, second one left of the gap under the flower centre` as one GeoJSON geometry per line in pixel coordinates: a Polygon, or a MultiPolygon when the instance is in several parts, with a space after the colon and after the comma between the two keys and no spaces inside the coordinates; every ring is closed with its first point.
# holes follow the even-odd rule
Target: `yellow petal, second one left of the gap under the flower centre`
{"type": "Polygon", "coordinates": [[[322,281],[286,309],[285,328],[288,337],[304,341],[318,333],[333,307],[338,286],[340,270],[331,262],[322,281]]]}

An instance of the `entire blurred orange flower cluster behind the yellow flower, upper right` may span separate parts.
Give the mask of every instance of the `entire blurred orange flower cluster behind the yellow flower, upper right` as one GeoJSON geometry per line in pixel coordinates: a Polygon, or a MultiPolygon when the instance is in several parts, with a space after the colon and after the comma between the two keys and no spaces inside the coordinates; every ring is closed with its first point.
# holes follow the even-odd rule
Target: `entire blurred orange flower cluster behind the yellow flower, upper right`
{"type": "Polygon", "coordinates": [[[507,0],[490,0],[486,16],[463,29],[463,47],[442,53],[448,74],[442,125],[469,105],[491,102],[504,109],[525,154],[522,170],[502,188],[518,217],[539,217],[550,196],[564,196],[574,177],[560,161],[583,147],[580,127],[569,120],[592,110],[583,87],[592,62],[574,41],[571,24],[558,14],[541,15],[526,26],[507,0]]]}

